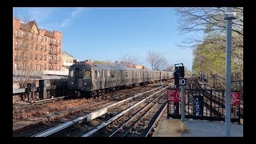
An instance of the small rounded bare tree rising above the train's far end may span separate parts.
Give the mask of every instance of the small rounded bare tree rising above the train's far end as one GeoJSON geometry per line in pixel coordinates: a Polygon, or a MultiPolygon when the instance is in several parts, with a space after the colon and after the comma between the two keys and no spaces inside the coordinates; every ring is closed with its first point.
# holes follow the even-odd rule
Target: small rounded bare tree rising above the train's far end
{"type": "Polygon", "coordinates": [[[152,70],[165,70],[167,66],[167,60],[164,55],[156,51],[147,52],[146,61],[150,63],[152,70]]]}

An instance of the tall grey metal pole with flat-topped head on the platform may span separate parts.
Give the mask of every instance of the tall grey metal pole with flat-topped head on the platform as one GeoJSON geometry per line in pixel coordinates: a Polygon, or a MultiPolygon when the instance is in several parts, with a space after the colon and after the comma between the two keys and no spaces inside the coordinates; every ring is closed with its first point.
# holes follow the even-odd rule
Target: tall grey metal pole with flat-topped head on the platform
{"type": "Polygon", "coordinates": [[[231,38],[232,38],[232,19],[235,19],[235,13],[232,13],[232,7],[226,8],[224,14],[226,20],[226,92],[225,92],[225,133],[230,137],[230,93],[231,93],[231,38]]]}

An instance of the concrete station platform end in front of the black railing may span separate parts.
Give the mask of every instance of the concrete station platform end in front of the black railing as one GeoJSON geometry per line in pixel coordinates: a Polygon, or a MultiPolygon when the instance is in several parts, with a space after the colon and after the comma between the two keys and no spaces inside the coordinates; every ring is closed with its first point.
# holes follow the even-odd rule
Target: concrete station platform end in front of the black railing
{"type": "MultiPolygon", "coordinates": [[[[152,137],[226,137],[225,122],[185,119],[183,132],[181,123],[162,117],[152,137]]],[[[243,137],[243,125],[231,122],[230,137],[243,137]]]]}

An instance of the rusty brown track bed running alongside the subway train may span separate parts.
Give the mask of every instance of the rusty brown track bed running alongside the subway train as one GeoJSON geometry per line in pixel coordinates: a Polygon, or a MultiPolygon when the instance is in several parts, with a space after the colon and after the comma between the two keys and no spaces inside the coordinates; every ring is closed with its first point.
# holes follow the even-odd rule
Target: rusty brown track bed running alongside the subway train
{"type": "MultiPolygon", "coordinates": [[[[108,93],[96,98],[74,98],[67,101],[48,101],[45,105],[37,106],[25,106],[20,109],[18,107],[13,107],[13,131],[22,130],[22,128],[28,128],[30,125],[34,126],[36,124],[53,121],[56,118],[62,118],[67,114],[75,113],[79,110],[75,110],[74,107],[89,105],[90,102],[101,102],[101,101],[120,101],[122,99],[133,96],[136,93],[150,90],[154,87],[145,86],[145,87],[135,87],[134,89],[120,90],[116,93],[108,93]],[[131,91],[133,90],[133,91],[131,91]],[[129,92],[130,91],[130,92],[129,92]],[[70,110],[69,110],[70,109],[70,110]],[[64,112],[62,112],[64,111],[64,112]],[[54,118],[55,117],[55,118],[54,118]]],[[[45,101],[42,101],[45,102],[45,101]]]]}

